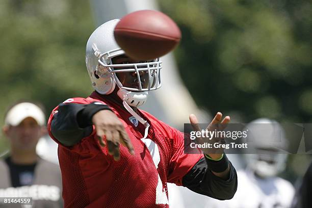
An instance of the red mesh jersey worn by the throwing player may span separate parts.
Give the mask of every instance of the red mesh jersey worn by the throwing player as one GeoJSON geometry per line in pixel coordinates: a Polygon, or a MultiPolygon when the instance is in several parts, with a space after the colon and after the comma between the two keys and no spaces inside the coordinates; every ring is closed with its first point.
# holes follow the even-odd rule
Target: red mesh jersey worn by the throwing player
{"type": "Polygon", "coordinates": [[[147,112],[139,111],[150,124],[148,136],[142,140],[145,127],[105,96],[92,93],[88,98],[65,102],[108,105],[122,121],[135,150],[131,155],[120,145],[120,160],[116,162],[107,147],[100,146],[94,130],[81,142],[63,146],[51,134],[51,121],[58,113],[55,108],[48,131],[59,143],[65,207],[169,207],[167,182],[181,186],[183,176],[202,158],[200,153],[185,154],[184,134],[147,112]]]}

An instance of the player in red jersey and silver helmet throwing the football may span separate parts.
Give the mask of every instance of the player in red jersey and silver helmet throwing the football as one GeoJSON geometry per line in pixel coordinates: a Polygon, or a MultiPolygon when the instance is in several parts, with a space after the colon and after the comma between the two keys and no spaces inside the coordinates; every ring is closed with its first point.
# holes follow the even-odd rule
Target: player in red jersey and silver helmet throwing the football
{"type": "MultiPolygon", "coordinates": [[[[128,58],[114,39],[118,21],[102,24],[87,43],[95,91],[67,99],[48,121],[59,144],[65,207],[168,207],[167,182],[232,198],[236,170],[223,149],[185,154],[182,133],[137,109],[161,86],[161,62],[128,58]]],[[[218,113],[212,123],[229,119],[218,113]]],[[[197,118],[190,120],[196,128],[197,118]]]]}

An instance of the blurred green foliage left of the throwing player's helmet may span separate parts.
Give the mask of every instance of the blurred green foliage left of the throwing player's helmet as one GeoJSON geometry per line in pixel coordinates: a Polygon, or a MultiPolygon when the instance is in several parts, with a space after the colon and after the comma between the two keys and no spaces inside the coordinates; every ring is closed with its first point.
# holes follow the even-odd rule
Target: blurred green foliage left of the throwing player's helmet
{"type": "MultiPolygon", "coordinates": [[[[88,1],[0,1],[0,112],[20,99],[46,113],[69,97],[87,96],[85,46],[94,30],[88,1]]],[[[0,150],[7,148],[2,137],[0,150]]]]}

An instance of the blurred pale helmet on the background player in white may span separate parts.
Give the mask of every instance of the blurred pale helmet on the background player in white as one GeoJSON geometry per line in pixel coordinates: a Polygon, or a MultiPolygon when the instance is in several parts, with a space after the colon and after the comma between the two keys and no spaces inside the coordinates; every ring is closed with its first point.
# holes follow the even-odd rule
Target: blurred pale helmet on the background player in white
{"type": "Polygon", "coordinates": [[[259,118],[245,128],[248,129],[248,149],[254,151],[254,154],[244,154],[247,168],[263,178],[283,171],[288,158],[284,149],[288,142],[282,126],[275,120],[259,118]]]}

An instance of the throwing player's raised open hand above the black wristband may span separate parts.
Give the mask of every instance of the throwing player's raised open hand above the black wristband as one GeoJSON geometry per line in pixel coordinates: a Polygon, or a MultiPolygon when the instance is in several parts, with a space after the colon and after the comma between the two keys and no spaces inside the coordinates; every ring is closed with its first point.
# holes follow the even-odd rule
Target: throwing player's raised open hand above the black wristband
{"type": "MultiPolygon", "coordinates": [[[[215,129],[216,129],[217,131],[222,131],[226,127],[226,124],[229,123],[230,117],[225,116],[222,121],[221,121],[221,119],[222,119],[222,113],[218,112],[216,114],[216,116],[214,117],[214,119],[211,121],[211,123],[207,126],[206,130],[215,131],[215,129]],[[222,124],[222,125],[219,125],[219,124],[222,124]]],[[[192,125],[194,131],[201,132],[201,129],[200,129],[199,124],[198,124],[198,120],[194,114],[190,115],[190,122],[191,122],[191,125],[192,125]]],[[[198,144],[204,143],[203,138],[196,138],[196,141],[198,144]]],[[[224,142],[224,139],[214,137],[209,142],[211,144],[214,144],[214,143],[220,143],[221,144],[224,142]]],[[[209,157],[211,157],[212,159],[221,158],[223,150],[224,150],[224,148],[222,148],[222,147],[220,147],[220,148],[209,148],[209,149],[203,148],[202,149],[203,153],[209,155],[209,157]]]]}

